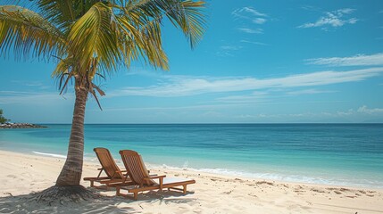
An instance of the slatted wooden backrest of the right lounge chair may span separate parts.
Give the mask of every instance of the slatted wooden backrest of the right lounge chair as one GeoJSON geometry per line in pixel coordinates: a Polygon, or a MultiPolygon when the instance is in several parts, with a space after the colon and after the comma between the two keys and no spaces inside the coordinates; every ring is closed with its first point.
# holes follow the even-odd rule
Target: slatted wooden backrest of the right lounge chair
{"type": "Polygon", "coordinates": [[[130,179],[136,185],[156,185],[152,179],[144,180],[144,177],[149,177],[144,161],[141,155],[132,150],[121,150],[121,159],[129,173],[130,179]]]}

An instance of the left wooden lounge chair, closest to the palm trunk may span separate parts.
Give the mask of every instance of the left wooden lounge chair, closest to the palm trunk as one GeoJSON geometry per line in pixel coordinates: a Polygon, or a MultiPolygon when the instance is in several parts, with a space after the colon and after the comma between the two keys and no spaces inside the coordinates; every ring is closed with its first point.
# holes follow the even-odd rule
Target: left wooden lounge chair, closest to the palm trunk
{"type": "Polygon", "coordinates": [[[100,161],[102,168],[98,169],[100,172],[97,177],[84,177],[84,180],[90,181],[91,187],[100,188],[121,184],[122,182],[124,184],[131,182],[129,177],[126,177],[126,175],[123,174],[124,172],[126,173],[126,171],[122,171],[117,166],[116,162],[112,158],[111,152],[109,152],[108,149],[95,148],[93,151],[96,152],[98,161],[100,161]],[[101,177],[103,171],[106,174],[106,177],[101,177]],[[95,182],[103,185],[95,185],[95,182]]]}

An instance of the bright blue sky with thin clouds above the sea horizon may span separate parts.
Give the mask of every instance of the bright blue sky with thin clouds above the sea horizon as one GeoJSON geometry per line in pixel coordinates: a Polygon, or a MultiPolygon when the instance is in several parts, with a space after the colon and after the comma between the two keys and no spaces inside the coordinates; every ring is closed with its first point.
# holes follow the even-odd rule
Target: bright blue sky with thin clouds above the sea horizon
{"type": "MultiPolygon", "coordinates": [[[[170,71],[134,63],[100,81],[87,123],[383,122],[383,1],[208,1],[191,50],[163,23],[170,71]]],[[[0,59],[14,122],[71,123],[53,63],[0,59]]]]}

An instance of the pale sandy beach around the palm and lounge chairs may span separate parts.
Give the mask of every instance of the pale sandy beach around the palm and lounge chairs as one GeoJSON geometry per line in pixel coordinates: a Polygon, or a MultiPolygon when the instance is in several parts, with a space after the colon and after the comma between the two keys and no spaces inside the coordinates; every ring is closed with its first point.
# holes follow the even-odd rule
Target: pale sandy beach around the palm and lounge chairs
{"type": "MultiPolygon", "coordinates": [[[[62,159],[0,151],[0,213],[383,213],[383,190],[330,185],[293,184],[193,171],[151,169],[167,177],[190,177],[188,193],[141,193],[138,201],[99,191],[107,200],[46,206],[23,200],[54,185],[62,159]]],[[[84,164],[83,177],[95,177],[100,166],[84,164]]],[[[88,182],[82,185],[89,186],[88,182]]]]}

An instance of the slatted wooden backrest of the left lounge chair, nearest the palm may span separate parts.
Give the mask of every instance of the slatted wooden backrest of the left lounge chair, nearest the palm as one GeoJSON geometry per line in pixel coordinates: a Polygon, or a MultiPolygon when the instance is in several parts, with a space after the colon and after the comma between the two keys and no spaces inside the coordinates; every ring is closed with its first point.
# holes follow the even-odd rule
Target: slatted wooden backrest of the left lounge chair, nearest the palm
{"type": "Polygon", "coordinates": [[[108,149],[95,148],[93,151],[96,152],[98,161],[100,161],[100,164],[108,177],[121,179],[124,178],[120,168],[117,166],[116,162],[112,158],[111,152],[109,152],[108,149]]]}

